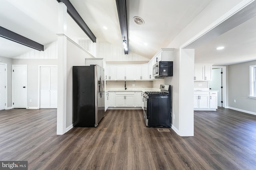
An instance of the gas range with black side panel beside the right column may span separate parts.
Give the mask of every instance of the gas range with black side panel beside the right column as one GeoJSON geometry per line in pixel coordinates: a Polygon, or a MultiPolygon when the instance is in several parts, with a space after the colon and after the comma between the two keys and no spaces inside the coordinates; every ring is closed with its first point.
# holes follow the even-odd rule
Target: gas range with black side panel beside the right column
{"type": "Polygon", "coordinates": [[[160,92],[145,92],[143,117],[148,127],[171,126],[171,86],[161,84],[160,92]]]}

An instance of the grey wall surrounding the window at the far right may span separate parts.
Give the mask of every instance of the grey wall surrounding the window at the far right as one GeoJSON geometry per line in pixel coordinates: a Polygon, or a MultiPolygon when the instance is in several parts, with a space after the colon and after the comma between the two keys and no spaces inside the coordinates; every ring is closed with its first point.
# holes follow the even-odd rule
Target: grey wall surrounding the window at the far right
{"type": "Polygon", "coordinates": [[[228,66],[228,107],[256,114],[256,99],[248,97],[250,94],[250,65],[256,65],[256,60],[228,66]]]}

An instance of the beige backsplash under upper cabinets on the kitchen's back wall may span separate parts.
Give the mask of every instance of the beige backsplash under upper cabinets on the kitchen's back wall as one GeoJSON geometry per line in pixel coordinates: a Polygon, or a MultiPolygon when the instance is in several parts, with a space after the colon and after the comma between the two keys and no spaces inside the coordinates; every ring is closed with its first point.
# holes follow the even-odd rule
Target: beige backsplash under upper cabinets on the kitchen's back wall
{"type": "MultiPolygon", "coordinates": [[[[106,81],[106,88],[124,88],[125,81],[106,81]]],[[[152,81],[126,81],[127,88],[152,88],[152,81]],[[134,86],[132,86],[134,84],[134,86]]]]}

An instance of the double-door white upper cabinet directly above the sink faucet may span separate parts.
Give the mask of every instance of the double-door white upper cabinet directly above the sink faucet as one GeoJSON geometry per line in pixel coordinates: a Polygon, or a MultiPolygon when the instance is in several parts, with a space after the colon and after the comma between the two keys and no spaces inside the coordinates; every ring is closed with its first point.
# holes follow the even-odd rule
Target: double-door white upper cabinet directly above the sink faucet
{"type": "Polygon", "coordinates": [[[116,80],[135,80],[134,66],[116,66],[116,80]]]}

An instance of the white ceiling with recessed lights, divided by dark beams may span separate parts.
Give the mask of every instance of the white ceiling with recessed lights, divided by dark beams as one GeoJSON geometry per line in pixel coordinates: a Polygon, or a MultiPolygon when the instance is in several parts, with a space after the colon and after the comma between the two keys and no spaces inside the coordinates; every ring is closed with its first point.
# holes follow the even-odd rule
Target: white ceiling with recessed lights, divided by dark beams
{"type": "MultiPolygon", "coordinates": [[[[128,0],[129,51],[149,59],[165,48],[212,0],[128,0]],[[144,19],[136,25],[134,16],[144,19]],[[147,43],[148,46],[145,46],[147,43]]],[[[70,0],[97,42],[106,41],[122,46],[122,36],[116,9],[116,0],[70,0]],[[108,27],[107,30],[103,26],[108,27]]],[[[58,33],[58,2],[56,0],[0,0],[0,26],[46,45],[56,41],[58,33]]],[[[70,37],[84,37],[81,29],[69,17],[70,37]]],[[[233,64],[254,60],[256,19],[204,43],[195,49],[195,63],[233,64]],[[216,51],[216,46],[225,49],[216,51]]],[[[29,47],[0,38],[0,56],[15,57],[29,47]],[[15,49],[15,50],[13,50],[15,49]]]]}

